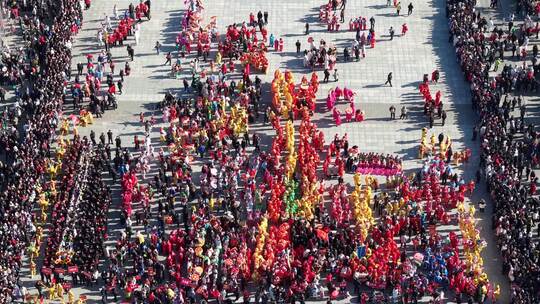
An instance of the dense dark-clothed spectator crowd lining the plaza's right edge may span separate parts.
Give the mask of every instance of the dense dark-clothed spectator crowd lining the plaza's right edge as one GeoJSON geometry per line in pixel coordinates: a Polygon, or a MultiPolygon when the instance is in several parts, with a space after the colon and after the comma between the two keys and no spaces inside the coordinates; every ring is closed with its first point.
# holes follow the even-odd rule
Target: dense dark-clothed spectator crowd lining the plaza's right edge
{"type": "MultiPolygon", "coordinates": [[[[456,47],[458,62],[470,83],[472,105],[480,115],[473,139],[481,144],[480,165],[493,200],[493,229],[503,257],[503,273],[512,284],[512,303],[540,301],[538,132],[525,118],[521,95],[538,92],[537,46],[528,44],[534,31],[529,22],[535,14],[532,1],[518,1],[525,22],[510,18],[508,27],[487,27],[487,19],[475,11],[475,1],[449,1],[447,15],[450,42],[456,47]],[[497,61],[508,60],[508,45],[524,49],[522,64],[505,64],[502,73],[489,76],[497,61]],[[528,52],[533,50],[533,54],[528,52]],[[532,56],[531,56],[532,55],[532,56]],[[513,96],[513,97],[512,97],[513,96]],[[519,118],[514,114],[516,104],[519,118]],[[538,233],[538,231],[537,231],[538,233]]],[[[515,48],[514,48],[515,50],[515,48]]]]}

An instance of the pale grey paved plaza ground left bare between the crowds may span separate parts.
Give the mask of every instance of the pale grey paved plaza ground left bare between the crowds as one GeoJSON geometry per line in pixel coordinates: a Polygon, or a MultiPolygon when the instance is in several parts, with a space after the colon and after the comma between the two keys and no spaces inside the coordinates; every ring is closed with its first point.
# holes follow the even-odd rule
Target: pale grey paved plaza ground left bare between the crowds
{"type": "MultiPolygon", "coordinates": [[[[304,34],[306,22],[310,24],[309,36],[316,42],[324,39],[327,43],[336,45],[341,59],[343,48],[346,46],[350,48],[355,35],[353,31],[344,29],[349,19],[358,16],[369,19],[373,16],[376,19],[375,30],[378,35],[375,48],[368,47],[366,57],[359,62],[338,61],[336,68],[340,74],[339,81],[333,82],[331,77],[329,83],[321,83],[313,121],[324,131],[327,142],[335,134],[342,136],[346,133],[350,144],[358,145],[361,151],[397,154],[403,157],[406,172],[412,173],[422,164],[418,159],[418,147],[421,129],[428,127],[428,120],[422,112],[423,100],[418,91],[418,85],[424,74],[431,75],[433,70],[438,69],[441,72],[441,79],[438,84],[431,86],[431,90],[442,92],[448,118],[444,126],[441,125],[440,120],[436,120],[429,134],[448,135],[453,140],[454,151],[465,148],[472,150],[472,159],[461,165],[459,172],[465,176],[466,180],[473,179],[479,161],[479,144],[471,141],[472,129],[477,117],[471,111],[469,87],[464,81],[460,67],[456,64],[454,47],[448,43],[445,1],[412,1],[414,5],[412,15],[406,15],[406,6],[409,2],[403,2],[404,9],[401,16],[396,16],[395,9],[387,7],[384,0],[349,0],[345,16],[346,23],[342,25],[339,32],[328,32],[326,25],[319,21],[319,7],[325,4],[324,0],[207,0],[204,1],[204,17],[208,20],[211,16],[216,16],[218,30],[224,33],[227,25],[247,21],[250,12],[268,11],[269,34],[273,33],[276,38],[283,38],[285,42],[283,52],[275,52],[273,48],[270,48],[268,73],[258,74],[263,80],[265,91],[263,102],[268,103],[269,83],[275,69],[292,71],[296,83],[303,75],[309,77],[312,72],[311,68],[303,66],[303,56],[297,54],[295,48],[297,40],[301,42],[302,50],[308,47],[308,36],[304,34]],[[404,23],[408,25],[409,32],[401,36],[401,26],[404,23]],[[388,33],[391,26],[397,33],[393,40],[390,40],[388,33]],[[389,72],[392,72],[394,76],[392,87],[384,85],[389,72]],[[326,94],[335,86],[348,87],[356,92],[356,106],[365,111],[365,121],[335,125],[332,113],[325,107],[326,94]],[[409,117],[404,120],[391,120],[389,108],[392,105],[396,108],[398,118],[400,108],[406,106],[409,117]]],[[[121,136],[124,145],[131,147],[133,136],[136,134],[142,136],[144,133],[144,128],[139,123],[141,112],[145,113],[145,117],[155,115],[158,118],[160,113],[155,110],[155,107],[167,91],[183,96],[182,80],[171,77],[170,67],[164,65],[165,54],[175,51],[175,39],[180,31],[184,9],[183,2],[183,0],[152,2],[152,19],[143,22],[140,43],[135,45],[133,37],[128,40],[135,49],[135,60],[130,62],[132,73],[125,78],[123,94],[117,97],[118,109],[106,111],[103,118],[95,120],[94,125],[81,129],[82,134],[88,134],[91,129],[98,135],[112,130],[115,136],[121,136]],[[163,45],[159,55],[154,49],[156,41],[163,45]]],[[[73,67],[77,62],[86,62],[87,54],[97,55],[100,50],[96,41],[97,29],[105,15],[112,15],[115,4],[119,14],[123,14],[123,10],[129,6],[130,1],[94,0],[91,8],[84,12],[84,26],[76,36],[73,46],[73,67]]],[[[479,1],[479,6],[488,5],[487,0],[479,1]]],[[[214,57],[214,52],[215,47],[212,48],[211,58],[214,57]]],[[[112,54],[118,68],[123,67],[122,61],[129,60],[125,47],[113,48],[112,54]]],[[[204,67],[206,66],[203,65],[204,67]]],[[[322,79],[322,71],[320,69],[315,71],[319,79],[322,79]]],[[[190,74],[186,72],[185,77],[190,77],[190,74]]],[[[240,75],[233,77],[240,78],[240,75]]],[[[68,103],[65,107],[69,112],[72,106],[68,103]]],[[[345,102],[342,101],[338,107],[344,110],[345,102]]],[[[160,125],[154,126],[151,134],[156,145],[159,144],[159,127],[160,125]]],[[[269,125],[263,125],[262,115],[261,119],[253,124],[252,129],[261,134],[263,142],[267,144],[274,136],[272,128],[269,125]]],[[[118,219],[121,208],[119,193],[118,187],[114,186],[114,206],[109,211],[109,227],[113,232],[110,233],[108,245],[113,244],[119,233],[118,219]]],[[[487,198],[484,186],[477,188],[472,196],[472,203],[478,202],[481,198],[487,198]]],[[[507,278],[501,274],[502,262],[491,230],[489,204],[485,213],[477,213],[476,216],[481,235],[488,243],[483,252],[486,272],[492,283],[501,285],[501,303],[508,303],[510,288],[507,278]]],[[[443,233],[459,230],[455,225],[441,226],[439,229],[443,233]]],[[[23,272],[22,276],[27,287],[34,293],[33,284],[37,277],[29,280],[27,271],[23,272]]],[[[92,303],[97,303],[100,299],[98,287],[90,289],[77,287],[76,292],[87,295],[92,303]]],[[[110,297],[109,300],[112,301],[110,297]]],[[[341,302],[358,301],[357,297],[353,297],[341,302]]]]}

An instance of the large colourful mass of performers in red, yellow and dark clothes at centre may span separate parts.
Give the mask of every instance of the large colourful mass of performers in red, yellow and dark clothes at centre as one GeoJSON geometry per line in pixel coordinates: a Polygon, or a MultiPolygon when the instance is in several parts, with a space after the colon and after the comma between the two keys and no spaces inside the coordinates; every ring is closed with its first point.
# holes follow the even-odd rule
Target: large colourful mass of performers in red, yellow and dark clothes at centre
{"type": "MultiPolygon", "coordinates": [[[[219,45],[217,56],[234,66],[241,50],[219,45]]],[[[105,249],[107,263],[95,276],[103,281],[102,302],[333,300],[347,296],[348,283],[363,303],[424,295],[438,301],[449,289],[458,301],[496,297],[482,269],[474,209],[463,205],[474,185],[453,173],[451,157],[434,154],[408,177],[396,156],[361,152],[346,137],[325,145],[311,122],[311,97],[298,96],[316,92],[317,78],[296,88],[287,73],[276,72],[265,111],[276,132],[268,151],[249,128],[258,119],[261,80],[244,73],[236,83],[210,73],[193,75],[192,97],[167,94],[160,104],[161,148],[150,139],[157,120],[141,115],[145,136],[135,139],[135,153],[117,140],[116,155],[102,158],[113,180],[121,175],[123,209],[121,236],[105,249]],[[319,173],[323,157],[338,168],[337,182],[319,173]],[[345,171],[354,173],[351,193],[345,171]],[[382,189],[372,176],[379,174],[394,182],[382,189]],[[432,227],[452,221],[452,210],[461,234],[442,237],[432,227]]]]}

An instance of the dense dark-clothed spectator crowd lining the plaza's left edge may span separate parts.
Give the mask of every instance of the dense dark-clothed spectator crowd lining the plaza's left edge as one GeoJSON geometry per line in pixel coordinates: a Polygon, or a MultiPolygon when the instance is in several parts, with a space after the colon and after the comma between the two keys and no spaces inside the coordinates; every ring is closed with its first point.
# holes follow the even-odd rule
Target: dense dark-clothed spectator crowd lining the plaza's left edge
{"type": "Polygon", "coordinates": [[[16,56],[10,56],[11,63],[4,61],[12,72],[18,70],[19,77],[11,79],[18,88],[16,103],[2,115],[0,302],[11,302],[14,290],[20,290],[23,254],[37,235],[32,211],[40,198],[38,191],[47,183],[51,140],[71,67],[70,38],[82,22],[76,0],[20,2],[30,13],[18,19],[21,5],[12,1],[10,17],[22,22],[27,47],[17,63],[12,61],[16,56]]]}

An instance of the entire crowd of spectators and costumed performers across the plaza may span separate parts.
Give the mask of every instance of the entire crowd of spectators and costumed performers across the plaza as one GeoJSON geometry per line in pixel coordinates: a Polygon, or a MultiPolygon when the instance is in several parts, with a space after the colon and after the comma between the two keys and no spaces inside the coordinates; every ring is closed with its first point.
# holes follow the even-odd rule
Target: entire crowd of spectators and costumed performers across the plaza
{"type": "MultiPolygon", "coordinates": [[[[36,284],[39,296],[44,297],[46,286],[49,299],[63,300],[67,290],[70,303],[70,284],[96,281],[102,283],[103,303],[109,296],[148,303],[232,303],[240,297],[246,303],[253,297],[256,303],[332,301],[349,296],[348,285],[354,286],[361,303],[410,303],[424,296],[437,303],[445,294],[457,303],[497,299],[500,289],[483,269],[485,242],[475,227],[475,208],[465,206],[475,183],[456,174],[459,163],[452,163],[450,140],[442,136],[439,143],[445,148],[440,153],[426,150],[423,167],[411,176],[402,172],[399,157],[350,147],[346,135],[335,135],[325,144],[324,134],[311,120],[318,78],[314,74],[308,82],[304,77],[296,85],[292,73],[280,71],[272,83],[272,104],[264,111],[275,136],[264,145],[251,131],[250,124],[261,112],[263,84],[246,68],[252,62],[242,57],[258,48],[258,33],[266,42],[267,14],[257,14],[257,20],[252,14],[252,29],[229,26],[211,61],[222,68],[208,75],[197,75],[194,68],[191,85],[184,81],[183,98],[166,94],[156,115],[160,120],[141,115],[144,138],[134,138],[134,152],[117,138],[113,156],[112,132],[108,143],[104,134],[99,141],[93,133],[81,139],[76,124],[70,128],[62,120],[71,37],[82,25],[82,8],[76,0],[55,3],[58,10],[50,20],[36,14],[22,18],[35,39],[27,49],[2,58],[2,84],[18,89],[14,107],[2,115],[0,137],[5,159],[0,163],[0,302],[24,297],[19,273],[25,252],[31,275],[39,268],[42,277],[36,284]],[[21,61],[30,62],[30,68],[21,61]],[[239,61],[243,69],[236,68],[239,61]],[[227,79],[239,71],[241,80],[227,79]],[[298,127],[294,120],[300,121],[298,127]],[[158,148],[151,140],[153,127],[160,129],[158,148]],[[73,139],[67,138],[70,129],[73,139]],[[152,164],[157,174],[150,174],[152,164]],[[122,192],[122,228],[112,246],[104,245],[111,203],[110,189],[101,180],[105,170],[113,181],[120,176],[122,192]],[[352,184],[346,182],[347,174],[352,184]],[[385,187],[377,176],[386,177],[385,187]],[[37,206],[41,212],[35,212],[37,206]],[[44,241],[47,222],[52,225],[44,241]],[[437,225],[451,222],[458,224],[460,233],[443,236],[437,231],[437,225]],[[44,261],[38,265],[41,251],[44,261]],[[72,275],[70,284],[65,284],[66,272],[72,275]]],[[[340,3],[344,9],[346,1],[340,3]]],[[[340,3],[330,1],[330,10],[340,3]]],[[[540,286],[539,244],[533,235],[540,214],[534,173],[539,135],[533,125],[525,124],[521,98],[513,102],[505,97],[500,103],[503,96],[537,90],[536,54],[533,51],[531,65],[507,65],[495,79],[488,77],[497,57],[504,56],[506,41],[515,38],[526,49],[526,36],[533,31],[527,25],[518,30],[509,26],[509,33],[494,29],[486,39],[486,21],[475,13],[474,4],[448,2],[450,38],[481,117],[474,138],[481,141],[483,176],[494,200],[493,226],[503,271],[513,283],[513,302],[534,303],[540,286]],[[520,119],[512,114],[516,104],[520,119]],[[516,139],[517,133],[523,139],[516,139]]],[[[149,19],[149,2],[139,6],[128,13],[149,19]]],[[[198,40],[197,57],[206,59],[210,40],[219,39],[215,22],[203,34],[202,1],[189,0],[186,6],[178,57],[186,51],[189,55],[198,40]]],[[[125,22],[120,26],[124,29],[115,31],[120,40],[133,26],[129,19],[125,22]]],[[[357,40],[373,46],[374,21],[371,30],[369,37],[357,40]]],[[[324,41],[319,48],[312,45],[307,61],[332,70],[334,51],[324,41]]],[[[88,96],[94,105],[103,105],[91,96],[92,90],[99,92],[96,80],[105,63],[114,75],[110,59],[106,51],[95,65],[88,58],[89,93],[75,85],[74,99],[88,96]]],[[[78,74],[83,70],[84,66],[78,74]]],[[[438,80],[438,73],[432,78],[438,80]]],[[[116,93],[112,87],[113,82],[108,95],[116,93]]],[[[440,95],[432,100],[429,87],[422,93],[427,112],[442,107],[440,95]]],[[[341,97],[351,106],[346,119],[355,115],[363,120],[363,113],[354,108],[354,92],[337,87],[327,98],[336,122],[341,119],[336,107],[341,97]]],[[[96,106],[91,108],[99,113],[96,106]]]]}

